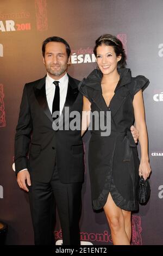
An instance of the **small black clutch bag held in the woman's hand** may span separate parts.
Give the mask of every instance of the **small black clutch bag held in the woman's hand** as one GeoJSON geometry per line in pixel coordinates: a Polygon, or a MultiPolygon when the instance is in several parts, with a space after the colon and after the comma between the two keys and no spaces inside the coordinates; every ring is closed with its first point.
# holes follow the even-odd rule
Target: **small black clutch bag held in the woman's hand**
{"type": "Polygon", "coordinates": [[[151,194],[151,187],[149,185],[149,180],[144,179],[143,176],[139,177],[138,184],[138,200],[140,204],[147,203],[149,196],[151,194]]]}

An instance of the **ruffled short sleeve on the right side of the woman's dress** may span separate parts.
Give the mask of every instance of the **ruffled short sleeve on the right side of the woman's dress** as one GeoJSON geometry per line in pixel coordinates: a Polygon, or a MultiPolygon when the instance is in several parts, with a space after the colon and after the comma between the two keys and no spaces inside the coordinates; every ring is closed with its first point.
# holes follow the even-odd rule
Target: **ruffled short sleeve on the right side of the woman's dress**
{"type": "Polygon", "coordinates": [[[134,86],[132,88],[133,95],[135,95],[137,92],[139,92],[142,89],[145,90],[147,86],[149,85],[149,80],[145,76],[136,76],[134,78],[134,86]]]}

